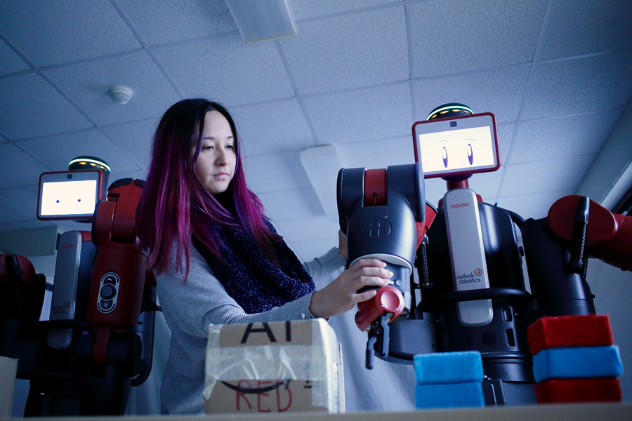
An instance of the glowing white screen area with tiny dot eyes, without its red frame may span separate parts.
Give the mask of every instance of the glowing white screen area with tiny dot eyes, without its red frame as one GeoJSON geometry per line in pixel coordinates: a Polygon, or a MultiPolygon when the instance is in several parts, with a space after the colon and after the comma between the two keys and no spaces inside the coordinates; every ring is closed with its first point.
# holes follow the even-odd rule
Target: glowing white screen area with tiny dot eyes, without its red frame
{"type": "Polygon", "coordinates": [[[96,194],[96,180],[44,182],[40,215],[92,215],[96,194]]]}

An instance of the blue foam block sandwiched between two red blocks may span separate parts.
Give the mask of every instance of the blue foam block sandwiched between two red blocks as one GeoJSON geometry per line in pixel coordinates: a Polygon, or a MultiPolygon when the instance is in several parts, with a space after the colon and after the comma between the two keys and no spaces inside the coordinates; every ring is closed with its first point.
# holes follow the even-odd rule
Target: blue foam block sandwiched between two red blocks
{"type": "Polygon", "coordinates": [[[548,379],[619,377],[623,363],[619,347],[578,347],[543,349],[533,357],[536,382],[548,379]]]}

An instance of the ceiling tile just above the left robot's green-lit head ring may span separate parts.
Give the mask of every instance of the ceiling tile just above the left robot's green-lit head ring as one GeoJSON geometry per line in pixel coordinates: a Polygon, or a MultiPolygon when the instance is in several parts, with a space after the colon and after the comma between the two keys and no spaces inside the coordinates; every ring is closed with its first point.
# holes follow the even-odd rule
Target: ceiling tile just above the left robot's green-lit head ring
{"type": "Polygon", "coordinates": [[[81,155],[104,159],[112,171],[138,170],[133,159],[96,128],[48,138],[22,140],[18,145],[54,168],[54,171],[67,171],[70,161],[81,155]]]}

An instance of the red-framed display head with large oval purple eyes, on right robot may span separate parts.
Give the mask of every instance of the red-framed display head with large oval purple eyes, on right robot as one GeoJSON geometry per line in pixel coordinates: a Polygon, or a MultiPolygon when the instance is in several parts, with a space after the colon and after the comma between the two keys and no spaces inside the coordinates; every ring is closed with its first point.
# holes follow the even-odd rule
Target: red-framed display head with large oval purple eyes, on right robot
{"type": "Polygon", "coordinates": [[[415,160],[424,178],[496,171],[500,167],[494,114],[420,121],[413,126],[415,160]]]}

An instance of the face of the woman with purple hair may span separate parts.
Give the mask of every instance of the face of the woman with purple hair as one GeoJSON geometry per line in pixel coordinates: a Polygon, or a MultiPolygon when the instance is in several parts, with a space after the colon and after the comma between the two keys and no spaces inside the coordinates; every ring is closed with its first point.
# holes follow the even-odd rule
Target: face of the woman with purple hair
{"type": "Polygon", "coordinates": [[[195,162],[195,177],[209,193],[223,193],[235,175],[236,163],[237,150],[230,123],[218,111],[207,112],[202,149],[195,162]]]}

